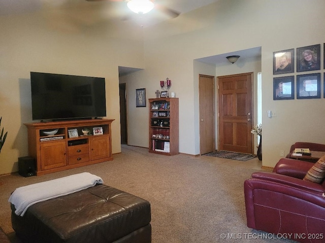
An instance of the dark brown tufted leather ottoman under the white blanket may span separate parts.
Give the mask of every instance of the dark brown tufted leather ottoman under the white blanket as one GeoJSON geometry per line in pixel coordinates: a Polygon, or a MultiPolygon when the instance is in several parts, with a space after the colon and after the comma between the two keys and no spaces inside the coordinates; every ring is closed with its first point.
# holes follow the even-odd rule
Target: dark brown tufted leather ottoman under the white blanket
{"type": "Polygon", "coordinates": [[[42,201],[23,217],[11,209],[23,242],[151,242],[150,203],[107,185],[42,201]]]}

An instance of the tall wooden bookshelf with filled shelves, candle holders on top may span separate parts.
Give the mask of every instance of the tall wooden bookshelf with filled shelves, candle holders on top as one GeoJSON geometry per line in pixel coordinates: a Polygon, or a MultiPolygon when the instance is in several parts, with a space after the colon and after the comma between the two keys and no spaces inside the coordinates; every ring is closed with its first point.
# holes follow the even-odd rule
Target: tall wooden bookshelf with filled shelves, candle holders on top
{"type": "Polygon", "coordinates": [[[178,98],[149,99],[149,152],[179,153],[178,98]]]}

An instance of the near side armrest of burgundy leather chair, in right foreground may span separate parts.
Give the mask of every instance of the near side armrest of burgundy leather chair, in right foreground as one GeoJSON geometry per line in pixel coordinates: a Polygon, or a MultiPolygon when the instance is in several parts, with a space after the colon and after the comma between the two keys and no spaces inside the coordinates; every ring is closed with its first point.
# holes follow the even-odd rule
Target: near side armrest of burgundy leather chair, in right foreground
{"type": "Polygon", "coordinates": [[[286,175],[253,173],[252,178],[244,182],[247,226],[271,233],[279,232],[282,227],[283,232],[288,229],[288,232],[292,232],[291,225],[285,224],[294,222],[301,216],[302,223],[297,224],[301,225],[298,228],[306,227],[308,221],[308,225],[311,225],[308,228],[322,229],[318,225],[323,222],[322,216],[325,213],[324,189],[324,186],[317,183],[286,175]]]}

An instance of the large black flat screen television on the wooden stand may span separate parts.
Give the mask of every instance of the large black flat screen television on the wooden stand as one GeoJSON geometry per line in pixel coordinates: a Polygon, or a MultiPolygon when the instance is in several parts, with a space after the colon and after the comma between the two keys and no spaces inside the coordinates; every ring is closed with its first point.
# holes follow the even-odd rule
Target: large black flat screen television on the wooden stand
{"type": "Polygon", "coordinates": [[[105,78],[30,72],[33,120],[106,116],[105,78]]]}

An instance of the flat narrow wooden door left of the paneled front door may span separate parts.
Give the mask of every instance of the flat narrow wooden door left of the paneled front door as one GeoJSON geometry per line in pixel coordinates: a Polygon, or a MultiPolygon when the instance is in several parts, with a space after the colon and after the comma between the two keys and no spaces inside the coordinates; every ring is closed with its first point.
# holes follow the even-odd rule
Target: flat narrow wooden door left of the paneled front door
{"type": "Polygon", "coordinates": [[[214,76],[199,76],[200,154],[214,151],[214,76]]]}

